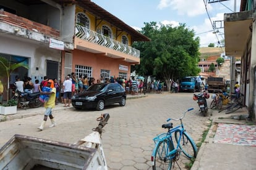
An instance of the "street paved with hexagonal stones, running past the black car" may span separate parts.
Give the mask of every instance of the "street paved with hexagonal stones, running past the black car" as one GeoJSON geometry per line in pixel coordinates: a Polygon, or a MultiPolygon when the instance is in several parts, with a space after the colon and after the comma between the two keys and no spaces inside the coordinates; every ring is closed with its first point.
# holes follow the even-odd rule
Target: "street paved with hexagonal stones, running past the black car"
{"type": "MultiPolygon", "coordinates": [[[[210,99],[208,99],[210,102],[210,99]]],[[[161,124],[167,118],[179,118],[187,108],[195,108],[184,118],[187,132],[198,143],[203,131],[207,129],[209,117],[203,117],[191,93],[148,94],[147,97],[127,100],[125,107],[113,105],[103,111],[77,111],[74,108],[54,110],[58,125],[38,132],[43,115],[0,122],[0,147],[14,134],[22,134],[43,139],[73,144],[92,132],[98,125],[96,118],[101,113],[109,113],[110,119],[103,133],[103,148],[109,169],[151,169],[150,156],[153,150],[153,137],[164,132],[161,124]]],[[[33,111],[29,109],[28,111],[33,111]]],[[[177,122],[174,122],[176,125],[177,122]]],[[[185,169],[188,163],[181,156],[179,166],[185,169]]],[[[177,164],[176,164],[177,168],[177,164]]],[[[175,168],[175,169],[176,169],[175,168]]]]}

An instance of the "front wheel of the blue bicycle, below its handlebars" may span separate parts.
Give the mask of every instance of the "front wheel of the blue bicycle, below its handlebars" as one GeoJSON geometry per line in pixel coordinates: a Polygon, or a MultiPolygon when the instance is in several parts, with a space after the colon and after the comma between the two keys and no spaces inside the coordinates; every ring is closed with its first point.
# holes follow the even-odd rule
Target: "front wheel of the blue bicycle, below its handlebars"
{"type": "MultiPolygon", "coordinates": [[[[177,143],[180,136],[181,131],[176,131],[175,139],[177,143]]],[[[181,148],[182,152],[187,156],[187,158],[197,157],[197,146],[186,132],[182,133],[181,141],[179,142],[179,148],[181,148]]]]}

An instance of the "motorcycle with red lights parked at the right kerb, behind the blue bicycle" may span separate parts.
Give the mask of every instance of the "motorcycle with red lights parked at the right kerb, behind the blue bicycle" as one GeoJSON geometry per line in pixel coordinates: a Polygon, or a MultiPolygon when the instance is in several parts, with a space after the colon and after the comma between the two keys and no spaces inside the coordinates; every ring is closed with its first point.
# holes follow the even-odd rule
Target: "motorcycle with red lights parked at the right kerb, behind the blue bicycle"
{"type": "Polygon", "coordinates": [[[207,106],[207,100],[210,97],[210,95],[207,92],[203,92],[196,95],[194,94],[193,100],[197,100],[198,106],[203,113],[203,116],[207,116],[208,113],[208,106],[207,106]]]}

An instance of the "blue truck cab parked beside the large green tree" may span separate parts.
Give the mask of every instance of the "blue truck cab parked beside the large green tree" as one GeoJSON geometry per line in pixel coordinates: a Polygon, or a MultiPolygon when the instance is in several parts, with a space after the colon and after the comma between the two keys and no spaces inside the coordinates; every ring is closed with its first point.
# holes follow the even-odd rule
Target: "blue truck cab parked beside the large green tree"
{"type": "Polygon", "coordinates": [[[179,87],[179,91],[185,92],[185,91],[190,91],[190,92],[195,92],[196,90],[196,77],[193,76],[187,76],[185,78],[182,78],[181,84],[179,87]]]}

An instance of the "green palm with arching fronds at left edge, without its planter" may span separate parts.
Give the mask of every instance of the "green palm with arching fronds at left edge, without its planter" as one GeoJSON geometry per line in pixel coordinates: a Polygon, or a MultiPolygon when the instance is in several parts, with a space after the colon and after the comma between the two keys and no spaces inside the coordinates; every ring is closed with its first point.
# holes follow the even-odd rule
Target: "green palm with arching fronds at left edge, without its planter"
{"type": "Polygon", "coordinates": [[[28,69],[28,65],[26,63],[11,63],[11,57],[9,57],[9,60],[4,57],[0,57],[0,77],[7,77],[7,100],[9,100],[10,76],[12,72],[19,67],[28,69]]]}

